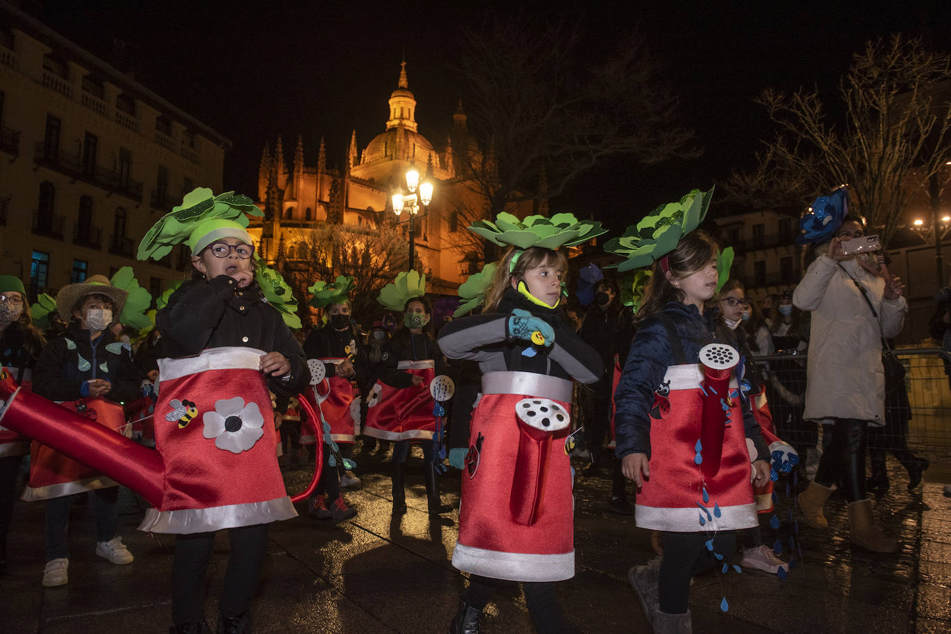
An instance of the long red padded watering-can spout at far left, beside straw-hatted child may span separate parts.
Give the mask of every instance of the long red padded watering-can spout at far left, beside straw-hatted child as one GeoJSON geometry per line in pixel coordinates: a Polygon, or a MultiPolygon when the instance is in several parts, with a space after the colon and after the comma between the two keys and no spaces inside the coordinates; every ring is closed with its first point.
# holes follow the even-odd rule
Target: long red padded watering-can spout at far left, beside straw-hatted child
{"type": "Polygon", "coordinates": [[[24,390],[10,397],[0,424],[106,474],[153,507],[161,506],[165,464],[158,451],[24,390]]]}

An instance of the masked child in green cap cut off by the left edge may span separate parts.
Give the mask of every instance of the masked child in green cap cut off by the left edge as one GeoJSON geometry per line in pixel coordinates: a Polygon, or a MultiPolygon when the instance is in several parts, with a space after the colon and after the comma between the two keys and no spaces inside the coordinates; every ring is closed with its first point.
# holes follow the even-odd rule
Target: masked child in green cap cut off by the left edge
{"type": "MultiPolygon", "coordinates": [[[[0,276],[0,381],[29,389],[46,340],[32,326],[27,290],[15,276],[0,276]]],[[[7,531],[16,500],[16,476],[29,438],[0,427],[0,572],[7,567],[7,531]]]]}

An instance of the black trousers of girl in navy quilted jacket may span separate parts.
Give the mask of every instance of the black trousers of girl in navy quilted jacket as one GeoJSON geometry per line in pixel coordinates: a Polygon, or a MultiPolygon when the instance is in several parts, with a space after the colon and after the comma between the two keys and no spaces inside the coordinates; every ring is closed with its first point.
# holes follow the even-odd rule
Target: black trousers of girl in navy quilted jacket
{"type": "MultiPolygon", "coordinates": [[[[685,614],[690,606],[690,577],[720,563],[707,549],[706,532],[663,532],[664,558],[660,564],[660,611],[685,614]]],[[[728,559],[736,550],[732,531],[717,533],[713,550],[728,559]]]]}

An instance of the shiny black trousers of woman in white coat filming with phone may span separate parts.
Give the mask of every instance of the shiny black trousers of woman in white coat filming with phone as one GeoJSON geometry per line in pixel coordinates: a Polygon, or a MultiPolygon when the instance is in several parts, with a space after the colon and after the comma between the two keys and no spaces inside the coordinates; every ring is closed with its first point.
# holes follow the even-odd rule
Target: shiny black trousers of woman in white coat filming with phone
{"type": "MultiPolygon", "coordinates": [[[[825,432],[829,431],[825,426],[825,432]]],[[[831,487],[841,484],[846,502],[864,500],[865,448],[868,445],[868,421],[836,418],[832,443],[823,451],[816,471],[816,484],[831,487]]]]}

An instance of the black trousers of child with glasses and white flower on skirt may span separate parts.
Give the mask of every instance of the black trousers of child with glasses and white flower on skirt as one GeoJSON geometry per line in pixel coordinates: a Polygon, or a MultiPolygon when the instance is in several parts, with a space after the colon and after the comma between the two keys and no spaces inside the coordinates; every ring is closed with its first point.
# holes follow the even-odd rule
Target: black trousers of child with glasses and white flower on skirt
{"type": "MultiPolygon", "coordinates": [[[[251,607],[267,552],[267,525],[229,528],[231,554],[219,611],[235,616],[251,607]]],[[[178,535],[172,563],[172,623],[204,621],[204,585],[215,545],[214,532],[178,535]]]]}

